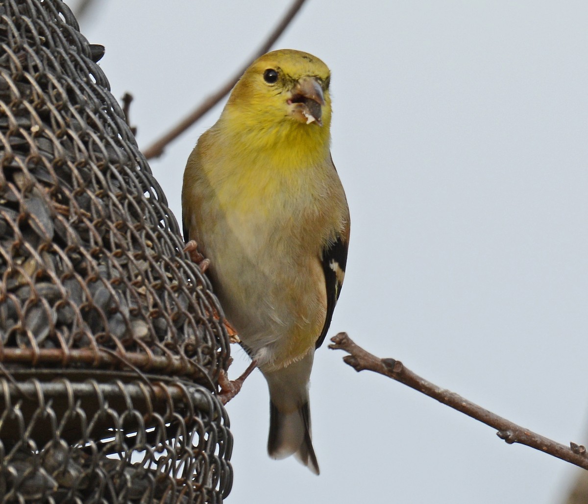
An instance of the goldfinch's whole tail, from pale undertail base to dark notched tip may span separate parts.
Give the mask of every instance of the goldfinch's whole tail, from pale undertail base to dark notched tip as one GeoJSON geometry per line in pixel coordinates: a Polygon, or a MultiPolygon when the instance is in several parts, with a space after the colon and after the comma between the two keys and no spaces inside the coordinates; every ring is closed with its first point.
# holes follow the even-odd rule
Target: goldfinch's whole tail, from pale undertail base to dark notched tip
{"type": "Polygon", "coordinates": [[[268,453],[282,459],[294,455],[319,473],[310,436],[308,382],[314,351],[278,371],[264,372],[269,386],[268,453]]]}

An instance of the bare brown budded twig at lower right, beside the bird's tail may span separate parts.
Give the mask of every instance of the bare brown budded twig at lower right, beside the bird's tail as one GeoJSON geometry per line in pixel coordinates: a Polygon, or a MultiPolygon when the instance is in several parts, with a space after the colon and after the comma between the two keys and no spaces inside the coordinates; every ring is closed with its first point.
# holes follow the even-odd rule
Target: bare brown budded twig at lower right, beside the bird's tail
{"type": "Polygon", "coordinates": [[[530,446],[544,453],[549,453],[563,461],[573,463],[583,469],[588,469],[588,457],[586,448],[576,443],[570,443],[570,446],[564,446],[547,439],[542,435],[524,429],[520,425],[513,424],[506,418],[498,416],[487,409],[484,409],[473,402],[467,401],[460,395],[449,390],[437,387],[424,378],[419,377],[410,369],[407,369],[402,362],[395,359],[380,359],[375,355],[363,350],[356,345],[345,332],[339,332],[338,335],[331,338],[333,342],[329,348],[333,350],[345,350],[350,355],[343,357],[343,361],[349,364],[356,371],[368,369],[389,378],[395,379],[400,383],[408,385],[419,392],[422,392],[437,401],[450,406],[457,411],[479,420],[483,424],[497,429],[497,435],[507,443],[520,443],[530,446]]]}

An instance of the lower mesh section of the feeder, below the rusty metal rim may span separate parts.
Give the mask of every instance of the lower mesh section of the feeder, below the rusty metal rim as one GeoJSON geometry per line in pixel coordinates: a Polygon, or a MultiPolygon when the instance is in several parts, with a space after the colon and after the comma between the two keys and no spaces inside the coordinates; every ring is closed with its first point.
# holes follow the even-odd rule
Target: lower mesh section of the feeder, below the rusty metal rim
{"type": "Polygon", "coordinates": [[[221,502],[222,407],[181,382],[0,379],[2,502],[221,502]]]}

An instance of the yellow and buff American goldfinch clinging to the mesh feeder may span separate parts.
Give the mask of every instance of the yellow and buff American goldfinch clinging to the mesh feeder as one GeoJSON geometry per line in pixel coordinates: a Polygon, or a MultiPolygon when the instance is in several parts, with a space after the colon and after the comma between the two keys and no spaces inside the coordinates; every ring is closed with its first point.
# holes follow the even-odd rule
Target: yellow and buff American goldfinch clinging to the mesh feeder
{"type": "Polygon", "coordinates": [[[268,382],[268,453],[318,474],[309,378],[345,274],[349,208],[330,156],[330,72],[280,50],[243,73],[186,165],[186,240],[268,382]],[[192,243],[192,242],[191,242],[192,243]]]}

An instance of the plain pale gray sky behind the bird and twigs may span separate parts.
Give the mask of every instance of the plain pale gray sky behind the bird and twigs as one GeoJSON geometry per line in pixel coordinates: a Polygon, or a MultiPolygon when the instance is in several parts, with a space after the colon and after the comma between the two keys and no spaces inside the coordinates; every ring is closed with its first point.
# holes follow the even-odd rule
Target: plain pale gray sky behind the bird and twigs
{"type": "MultiPolygon", "coordinates": [[[[113,94],[142,147],[215,91],[289,1],[101,0],[113,94]]],[[[74,4],[74,0],[71,1],[74,4]]],[[[309,0],[277,48],[332,70],[332,154],[352,236],[330,335],[556,441],[586,443],[588,2],[309,0]]],[[[216,107],[151,163],[176,217],[216,107]]],[[[247,364],[235,347],[235,377],[247,364]]],[[[228,405],[227,502],[551,504],[574,467],[379,375],[315,357],[321,475],[266,455],[256,372],[228,405]]]]}

